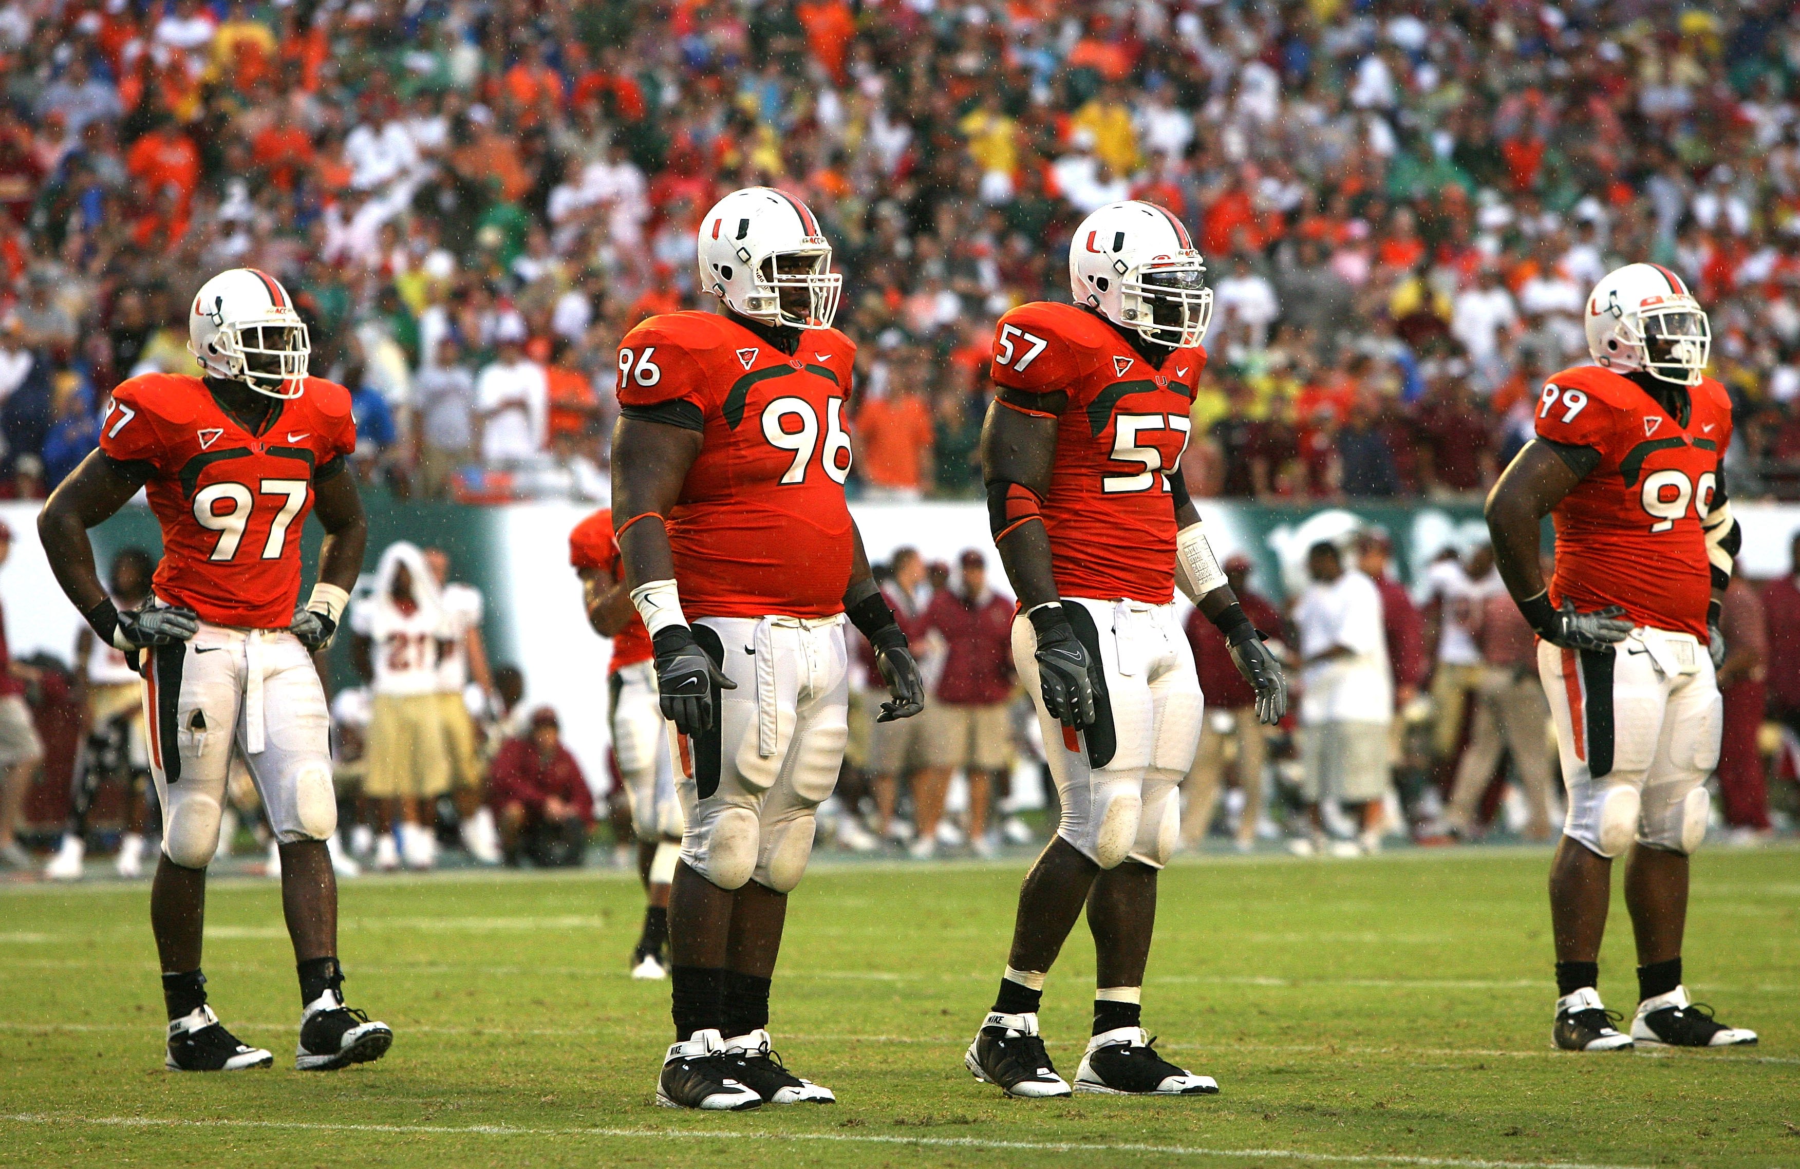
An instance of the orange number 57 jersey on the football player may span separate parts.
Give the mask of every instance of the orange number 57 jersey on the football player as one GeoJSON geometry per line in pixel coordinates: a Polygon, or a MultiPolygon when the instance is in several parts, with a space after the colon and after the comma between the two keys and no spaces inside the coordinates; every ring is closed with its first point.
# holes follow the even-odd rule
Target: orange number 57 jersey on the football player
{"type": "MultiPolygon", "coordinates": [[[[1175,595],[1175,505],[1199,345],[1152,369],[1105,318],[1073,304],[1022,304],[994,335],[994,381],[1066,392],[1044,527],[1057,592],[1166,604],[1175,595]]],[[[1004,406],[1003,406],[1004,408],[1004,406]]]]}

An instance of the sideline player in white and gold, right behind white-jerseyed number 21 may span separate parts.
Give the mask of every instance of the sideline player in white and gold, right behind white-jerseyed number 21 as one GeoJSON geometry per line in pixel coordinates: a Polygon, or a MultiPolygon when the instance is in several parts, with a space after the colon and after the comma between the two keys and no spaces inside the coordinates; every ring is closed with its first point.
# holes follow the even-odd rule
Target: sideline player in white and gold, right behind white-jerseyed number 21
{"type": "Polygon", "coordinates": [[[499,865],[500,834],[484,800],[486,768],[475,752],[473,696],[468,689],[473,682],[481,709],[493,709],[493,674],[488,673],[488,646],[481,638],[481,590],[450,579],[450,556],[443,549],[425,549],[425,563],[437,583],[450,635],[437,662],[437,705],[445,750],[450,752],[455,809],[463,818],[463,847],[481,863],[499,865]]]}

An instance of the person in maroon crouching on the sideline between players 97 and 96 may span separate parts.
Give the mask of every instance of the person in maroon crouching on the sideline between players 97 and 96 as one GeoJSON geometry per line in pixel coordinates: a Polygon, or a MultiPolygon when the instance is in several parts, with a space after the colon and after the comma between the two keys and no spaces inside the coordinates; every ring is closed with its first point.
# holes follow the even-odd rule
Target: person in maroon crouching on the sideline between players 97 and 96
{"type": "Polygon", "coordinates": [[[545,869],[581,863],[594,797],[581,764],[562,745],[554,710],[538,707],[531,730],[500,745],[488,773],[488,804],[500,822],[508,865],[517,865],[520,852],[545,869]]]}

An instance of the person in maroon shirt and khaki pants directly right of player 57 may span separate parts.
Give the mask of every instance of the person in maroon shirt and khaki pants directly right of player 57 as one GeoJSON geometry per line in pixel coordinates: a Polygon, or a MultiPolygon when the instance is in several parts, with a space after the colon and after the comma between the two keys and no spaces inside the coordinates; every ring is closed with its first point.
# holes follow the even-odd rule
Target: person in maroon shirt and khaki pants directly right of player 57
{"type": "MultiPolygon", "coordinates": [[[[1262,631],[1269,649],[1282,656],[1273,642],[1287,640],[1287,622],[1280,610],[1249,590],[1251,559],[1242,552],[1228,556],[1222,565],[1226,583],[1237,593],[1244,615],[1262,631]]],[[[1231,664],[1224,635],[1199,610],[1188,613],[1188,644],[1193,647],[1193,665],[1201,676],[1201,694],[1206,696],[1206,719],[1201,725],[1201,746],[1193,752],[1193,766],[1181,781],[1186,806],[1181,813],[1181,845],[1199,847],[1213,824],[1213,806],[1226,770],[1226,741],[1237,737],[1237,775],[1244,788],[1244,815],[1238,818],[1237,847],[1247,851],[1256,842],[1256,820],[1262,817],[1262,772],[1269,759],[1269,734],[1256,719],[1256,691],[1231,664]],[[1215,710],[1229,710],[1233,727],[1228,732],[1213,725],[1215,710]]]]}

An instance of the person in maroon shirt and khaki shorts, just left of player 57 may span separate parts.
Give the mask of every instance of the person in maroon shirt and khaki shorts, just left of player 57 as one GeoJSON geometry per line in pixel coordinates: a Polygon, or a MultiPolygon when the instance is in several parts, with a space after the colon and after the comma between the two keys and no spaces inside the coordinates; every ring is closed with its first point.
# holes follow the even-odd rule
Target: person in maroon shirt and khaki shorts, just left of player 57
{"type": "Polygon", "coordinates": [[[968,842],[976,854],[992,856],[997,842],[986,829],[994,777],[1004,786],[1012,764],[1012,619],[1017,606],[988,588],[988,561],[981,552],[965,549],[959,563],[958,588],[940,588],[918,624],[920,637],[943,638],[945,656],[925,707],[931,768],[913,786],[914,854],[931,852],[950,772],[965,768],[968,842]]]}

